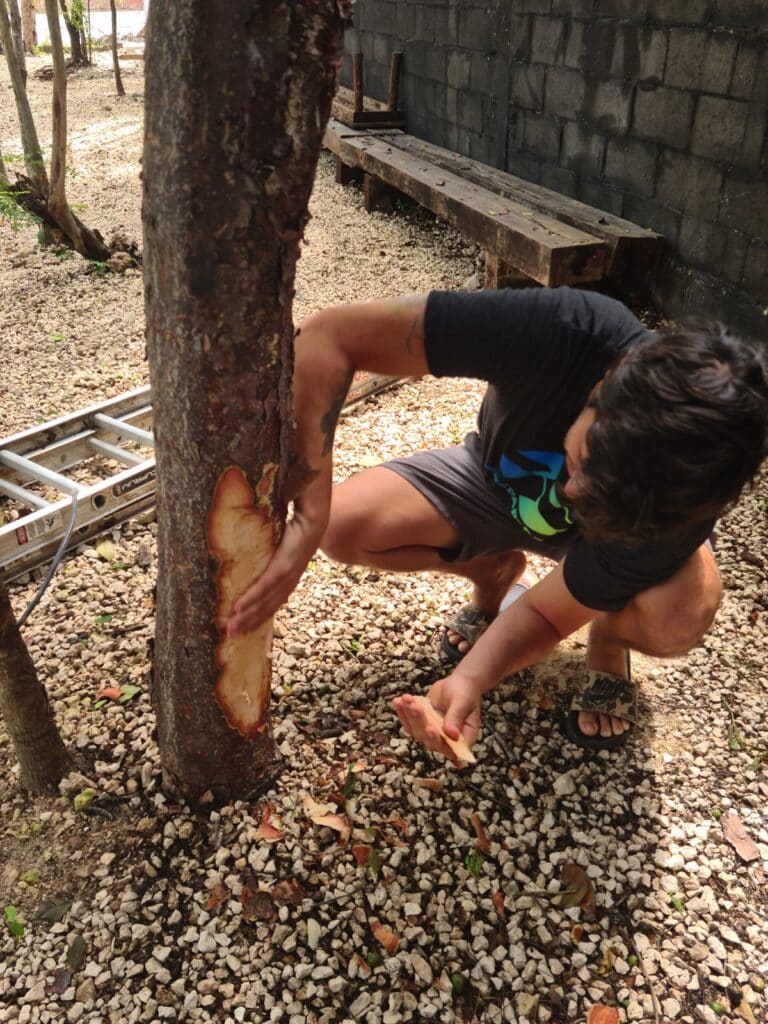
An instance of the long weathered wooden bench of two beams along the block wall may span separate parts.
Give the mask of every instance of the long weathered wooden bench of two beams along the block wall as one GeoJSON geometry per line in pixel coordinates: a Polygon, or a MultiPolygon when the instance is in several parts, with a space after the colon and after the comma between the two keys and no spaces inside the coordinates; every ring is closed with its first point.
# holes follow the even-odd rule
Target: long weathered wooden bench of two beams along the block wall
{"type": "Polygon", "coordinates": [[[655,231],[402,131],[332,119],[324,144],[338,181],[362,174],[367,209],[381,202],[383,186],[394,188],[480,245],[486,288],[637,275],[660,248],[655,231]]]}

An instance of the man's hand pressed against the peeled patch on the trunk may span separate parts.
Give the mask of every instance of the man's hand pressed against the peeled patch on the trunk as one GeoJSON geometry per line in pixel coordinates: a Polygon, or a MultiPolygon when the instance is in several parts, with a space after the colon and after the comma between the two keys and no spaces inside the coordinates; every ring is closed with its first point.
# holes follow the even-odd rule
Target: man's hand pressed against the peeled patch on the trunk
{"type": "Polygon", "coordinates": [[[250,633],[271,618],[296,589],[309,559],[317,550],[325,523],[294,510],[269,564],[234,602],[227,635],[250,633]]]}

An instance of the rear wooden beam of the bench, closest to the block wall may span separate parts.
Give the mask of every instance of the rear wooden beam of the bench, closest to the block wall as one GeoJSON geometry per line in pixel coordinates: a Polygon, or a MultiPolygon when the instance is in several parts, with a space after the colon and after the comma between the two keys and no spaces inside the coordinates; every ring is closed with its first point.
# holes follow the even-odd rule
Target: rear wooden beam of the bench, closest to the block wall
{"type": "Polygon", "coordinates": [[[506,199],[530,206],[563,223],[581,227],[590,234],[604,239],[609,254],[605,272],[609,275],[642,273],[652,265],[658,255],[662,236],[647,227],[640,227],[615,214],[597,210],[587,203],[561,196],[551,188],[545,188],[544,185],[525,181],[487,164],[480,164],[476,160],[425,142],[414,135],[392,132],[389,135],[382,134],[381,137],[406,153],[428,160],[435,166],[496,191],[506,199]]]}

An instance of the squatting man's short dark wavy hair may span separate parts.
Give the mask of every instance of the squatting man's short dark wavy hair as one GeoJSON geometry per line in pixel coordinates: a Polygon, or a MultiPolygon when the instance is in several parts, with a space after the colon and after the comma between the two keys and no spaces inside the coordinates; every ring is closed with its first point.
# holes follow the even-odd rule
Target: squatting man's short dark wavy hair
{"type": "Polygon", "coordinates": [[[768,455],[768,362],[721,324],[689,321],[633,346],[590,404],[582,493],[595,541],[673,538],[734,502],[768,455]]]}

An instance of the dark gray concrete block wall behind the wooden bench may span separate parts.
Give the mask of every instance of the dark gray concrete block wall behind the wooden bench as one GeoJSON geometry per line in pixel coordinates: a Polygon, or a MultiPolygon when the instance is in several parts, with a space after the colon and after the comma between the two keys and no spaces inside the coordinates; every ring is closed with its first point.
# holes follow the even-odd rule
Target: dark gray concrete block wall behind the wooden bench
{"type": "Polygon", "coordinates": [[[660,231],[671,314],[768,338],[768,6],[356,0],[349,54],[413,134],[660,231]]]}

